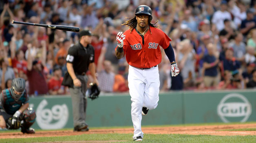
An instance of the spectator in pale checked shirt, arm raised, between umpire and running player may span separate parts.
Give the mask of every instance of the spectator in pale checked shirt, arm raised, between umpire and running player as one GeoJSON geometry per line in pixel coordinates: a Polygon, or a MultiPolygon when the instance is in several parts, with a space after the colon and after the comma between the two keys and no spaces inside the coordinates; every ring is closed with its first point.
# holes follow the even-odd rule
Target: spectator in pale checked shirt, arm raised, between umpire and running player
{"type": "Polygon", "coordinates": [[[97,73],[99,80],[99,88],[102,92],[113,92],[113,85],[115,81],[115,74],[113,73],[110,61],[104,61],[106,47],[102,47],[101,54],[97,64],[97,73]]]}

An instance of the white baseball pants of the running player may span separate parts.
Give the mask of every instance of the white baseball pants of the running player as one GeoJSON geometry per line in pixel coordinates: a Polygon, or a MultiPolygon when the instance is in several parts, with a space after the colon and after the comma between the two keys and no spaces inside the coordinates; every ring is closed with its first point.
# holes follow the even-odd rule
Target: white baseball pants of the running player
{"type": "Polygon", "coordinates": [[[147,107],[149,110],[157,107],[159,101],[159,72],[158,66],[142,70],[129,66],[128,86],[132,101],[132,123],[134,127],[134,136],[143,137],[141,131],[141,110],[147,107]]]}

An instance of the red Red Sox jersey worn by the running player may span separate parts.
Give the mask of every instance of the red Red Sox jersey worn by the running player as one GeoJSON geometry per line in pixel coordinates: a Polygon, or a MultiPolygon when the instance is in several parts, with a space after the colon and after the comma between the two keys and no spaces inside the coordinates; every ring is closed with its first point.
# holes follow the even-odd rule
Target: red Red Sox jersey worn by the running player
{"type": "MultiPolygon", "coordinates": [[[[124,32],[124,55],[129,65],[137,68],[151,68],[162,60],[161,49],[166,49],[172,41],[162,30],[150,26],[150,30],[144,35],[144,44],[136,28],[124,32]],[[150,30],[152,34],[150,34],[150,30]]],[[[117,47],[116,47],[117,49],[117,47]]]]}

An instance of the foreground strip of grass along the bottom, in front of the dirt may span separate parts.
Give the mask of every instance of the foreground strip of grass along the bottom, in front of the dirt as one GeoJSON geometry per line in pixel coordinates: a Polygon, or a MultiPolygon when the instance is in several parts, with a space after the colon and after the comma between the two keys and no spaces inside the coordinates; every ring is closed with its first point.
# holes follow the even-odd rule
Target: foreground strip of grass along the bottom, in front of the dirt
{"type": "MultiPolygon", "coordinates": [[[[38,143],[54,141],[106,141],[109,143],[134,143],[133,134],[82,134],[66,137],[38,137],[22,139],[0,139],[0,143],[38,143]]],[[[256,136],[213,136],[187,134],[144,134],[143,143],[255,143],[256,136]]],[[[104,143],[106,143],[104,142],[104,143]]]]}

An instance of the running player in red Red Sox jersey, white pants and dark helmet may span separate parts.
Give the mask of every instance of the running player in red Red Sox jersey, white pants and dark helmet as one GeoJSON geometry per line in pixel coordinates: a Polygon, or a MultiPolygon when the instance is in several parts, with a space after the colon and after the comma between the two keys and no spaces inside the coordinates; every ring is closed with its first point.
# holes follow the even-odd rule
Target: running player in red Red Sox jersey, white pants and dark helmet
{"type": "MultiPolygon", "coordinates": [[[[130,17],[123,25],[129,26],[124,34],[117,34],[115,54],[118,59],[126,55],[129,64],[128,86],[132,101],[132,123],[134,126],[134,141],[142,141],[141,118],[148,110],[155,109],[159,100],[159,72],[161,49],[163,47],[172,68],[172,76],[179,74],[175,62],[172,41],[152,20],[152,10],[149,6],[140,5],[135,16],[130,17]]],[[[157,22],[156,22],[157,23],[157,22]]]]}

